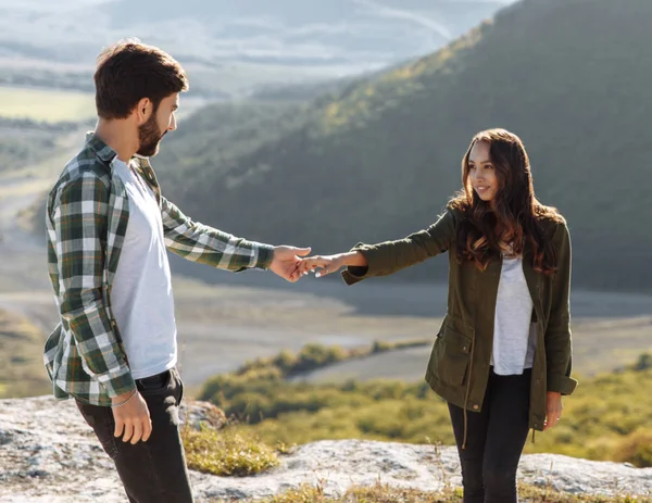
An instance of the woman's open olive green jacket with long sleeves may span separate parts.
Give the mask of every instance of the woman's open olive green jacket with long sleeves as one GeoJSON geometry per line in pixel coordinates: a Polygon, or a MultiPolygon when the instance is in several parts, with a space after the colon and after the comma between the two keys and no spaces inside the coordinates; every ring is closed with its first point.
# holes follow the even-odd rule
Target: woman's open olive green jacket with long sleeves
{"type": "MultiPolygon", "coordinates": [[[[452,209],[425,230],[404,239],[378,244],[356,244],[366,267],[349,267],[344,281],[353,285],[373,276],[387,276],[430,256],[449,251],[448,312],[441,325],[426,372],[426,381],[448,402],[479,412],[489,379],[493,348],[493,319],[502,261],[486,271],[460,264],[455,256],[456,229],[462,214],[452,209]]],[[[572,341],[569,315],[570,238],[563,219],[541,222],[557,254],[552,275],[537,273],[531,251],[524,250],[523,269],[534,301],[537,352],[532,367],[529,426],[542,430],[547,391],[570,394],[577,381],[570,377],[572,341]]]]}

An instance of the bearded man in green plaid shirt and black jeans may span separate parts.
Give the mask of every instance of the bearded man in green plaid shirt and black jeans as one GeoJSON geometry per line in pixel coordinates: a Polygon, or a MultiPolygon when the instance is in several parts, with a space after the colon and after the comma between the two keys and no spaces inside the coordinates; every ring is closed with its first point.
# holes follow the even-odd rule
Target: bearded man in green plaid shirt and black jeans
{"type": "Polygon", "coordinates": [[[95,74],[99,121],[47,206],[61,323],[46,343],[54,395],[73,397],[130,502],[192,501],[178,431],[183,383],[167,250],[223,269],[296,281],[309,249],[271,247],[193,223],[162,194],[148,158],[176,129],[181,66],[123,41],[95,74]]]}

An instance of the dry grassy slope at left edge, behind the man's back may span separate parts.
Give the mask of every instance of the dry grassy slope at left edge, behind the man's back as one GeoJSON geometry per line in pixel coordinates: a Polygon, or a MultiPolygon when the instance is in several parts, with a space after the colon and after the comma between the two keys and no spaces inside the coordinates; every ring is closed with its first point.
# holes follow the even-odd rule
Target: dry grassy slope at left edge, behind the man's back
{"type": "Polygon", "coordinates": [[[43,338],[27,319],[0,310],[0,399],[50,392],[43,338]]]}

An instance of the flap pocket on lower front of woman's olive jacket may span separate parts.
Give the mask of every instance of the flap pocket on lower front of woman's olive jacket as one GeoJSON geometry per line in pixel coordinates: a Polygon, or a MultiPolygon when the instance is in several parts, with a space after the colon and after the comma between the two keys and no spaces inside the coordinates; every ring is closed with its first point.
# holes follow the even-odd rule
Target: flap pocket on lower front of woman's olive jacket
{"type": "Polygon", "coordinates": [[[435,340],[430,356],[434,373],[441,382],[463,386],[471,362],[473,338],[444,325],[435,340]]]}

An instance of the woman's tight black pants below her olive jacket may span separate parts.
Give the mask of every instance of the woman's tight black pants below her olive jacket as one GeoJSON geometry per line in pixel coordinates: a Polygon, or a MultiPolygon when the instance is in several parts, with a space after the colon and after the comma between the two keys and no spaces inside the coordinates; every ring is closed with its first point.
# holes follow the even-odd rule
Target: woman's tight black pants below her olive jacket
{"type": "Polygon", "coordinates": [[[521,376],[491,370],[481,412],[468,412],[466,449],[464,410],[449,403],[460,452],[464,503],[516,503],[516,469],[527,440],[531,369],[521,376]]]}

